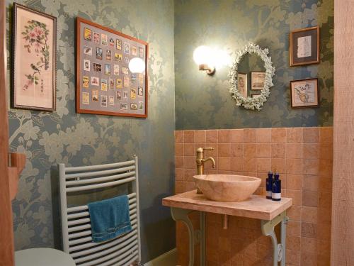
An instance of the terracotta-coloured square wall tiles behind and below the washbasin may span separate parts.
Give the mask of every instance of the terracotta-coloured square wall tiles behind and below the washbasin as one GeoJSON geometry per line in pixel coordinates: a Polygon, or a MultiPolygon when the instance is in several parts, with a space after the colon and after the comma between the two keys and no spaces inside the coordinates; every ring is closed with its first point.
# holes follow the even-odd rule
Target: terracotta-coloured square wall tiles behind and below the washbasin
{"type": "MultiPolygon", "coordinates": [[[[215,158],[205,173],[245,174],[262,179],[257,194],[265,194],[268,170],[282,179],[282,196],[291,197],[288,211],[287,265],[329,265],[333,128],[255,128],[175,131],[176,194],[195,188],[195,150],[212,147],[215,158]]],[[[193,215],[198,224],[198,216],[193,215]]],[[[230,217],[222,229],[218,214],[207,214],[207,265],[271,265],[270,238],[261,235],[260,221],[230,217]]],[[[178,264],[188,265],[188,234],[177,225],[178,264]]],[[[198,265],[198,253],[196,263],[198,265]]]]}

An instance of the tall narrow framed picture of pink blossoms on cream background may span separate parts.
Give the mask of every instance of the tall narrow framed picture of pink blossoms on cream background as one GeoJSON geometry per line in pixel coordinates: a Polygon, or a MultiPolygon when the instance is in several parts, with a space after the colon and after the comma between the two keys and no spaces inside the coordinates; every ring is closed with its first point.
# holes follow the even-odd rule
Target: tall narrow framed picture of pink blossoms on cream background
{"type": "Polygon", "coordinates": [[[57,18],[13,4],[11,107],[55,111],[57,18]]]}

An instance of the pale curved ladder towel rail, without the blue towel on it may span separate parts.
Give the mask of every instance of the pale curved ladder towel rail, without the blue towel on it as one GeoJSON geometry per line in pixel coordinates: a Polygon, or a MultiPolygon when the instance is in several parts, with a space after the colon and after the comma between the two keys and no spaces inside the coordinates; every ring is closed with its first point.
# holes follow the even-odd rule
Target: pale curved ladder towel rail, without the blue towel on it
{"type": "Polygon", "coordinates": [[[64,252],[77,266],[128,266],[140,262],[140,219],[138,158],[106,165],[65,167],[59,164],[60,209],[64,252]],[[67,207],[67,197],[74,192],[93,193],[95,189],[130,184],[129,198],[132,231],[113,240],[93,243],[87,205],[67,207]]]}

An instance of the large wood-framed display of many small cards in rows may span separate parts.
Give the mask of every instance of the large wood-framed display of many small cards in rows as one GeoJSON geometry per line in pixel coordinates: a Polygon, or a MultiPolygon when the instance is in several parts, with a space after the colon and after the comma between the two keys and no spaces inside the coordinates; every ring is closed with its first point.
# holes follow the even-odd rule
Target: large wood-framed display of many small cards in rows
{"type": "Polygon", "coordinates": [[[77,18],[76,112],[146,118],[148,50],[144,40],[77,18]],[[143,72],[130,71],[136,57],[143,72]]]}

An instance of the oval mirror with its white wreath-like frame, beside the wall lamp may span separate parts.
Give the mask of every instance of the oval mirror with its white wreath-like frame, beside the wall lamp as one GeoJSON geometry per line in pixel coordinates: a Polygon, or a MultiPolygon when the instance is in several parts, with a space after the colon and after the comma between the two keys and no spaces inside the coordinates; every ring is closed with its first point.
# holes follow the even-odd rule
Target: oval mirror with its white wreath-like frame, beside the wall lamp
{"type": "Polygon", "coordinates": [[[273,87],[273,67],[268,49],[249,43],[236,52],[236,59],[230,71],[230,92],[236,105],[245,109],[261,110],[267,101],[270,87],[273,87]]]}

